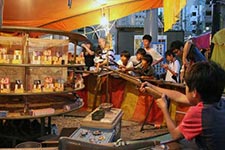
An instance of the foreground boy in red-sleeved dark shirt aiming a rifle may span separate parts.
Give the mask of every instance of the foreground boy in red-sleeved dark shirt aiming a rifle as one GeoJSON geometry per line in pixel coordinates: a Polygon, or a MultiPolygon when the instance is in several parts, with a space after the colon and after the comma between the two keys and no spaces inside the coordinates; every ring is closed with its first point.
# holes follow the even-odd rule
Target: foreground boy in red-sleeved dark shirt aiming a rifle
{"type": "Polygon", "coordinates": [[[176,102],[193,105],[180,125],[173,123],[167,110],[165,96],[156,101],[161,108],[173,139],[195,138],[201,149],[225,147],[225,99],[221,98],[225,87],[225,71],[214,62],[197,62],[185,74],[186,96],[180,92],[143,83],[140,90],[149,86],[166,94],[176,102]]]}

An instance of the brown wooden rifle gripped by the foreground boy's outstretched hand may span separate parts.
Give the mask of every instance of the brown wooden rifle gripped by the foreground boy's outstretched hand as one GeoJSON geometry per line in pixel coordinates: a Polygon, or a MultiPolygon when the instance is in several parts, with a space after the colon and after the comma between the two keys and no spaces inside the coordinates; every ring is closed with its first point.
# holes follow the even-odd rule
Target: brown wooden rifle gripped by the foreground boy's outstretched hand
{"type": "MultiPolygon", "coordinates": [[[[113,71],[114,73],[118,74],[118,75],[119,75],[121,78],[123,78],[124,80],[127,80],[127,81],[129,81],[129,82],[135,84],[135,85],[138,86],[138,87],[141,87],[142,82],[141,82],[139,79],[137,79],[137,78],[135,78],[135,77],[132,77],[132,76],[130,76],[130,75],[128,75],[128,74],[122,73],[122,72],[120,72],[120,71],[110,69],[110,68],[108,68],[108,67],[104,67],[104,68],[113,71]]],[[[161,96],[162,96],[162,93],[161,93],[161,92],[159,92],[159,91],[157,91],[157,90],[155,90],[155,89],[153,89],[153,88],[145,87],[145,89],[146,89],[146,92],[147,92],[147,93],[149,93],[150,95],[152,95],[152,96],[153,96],[154,98],[156,98],[156,99],[157,99],[157,98],[161,98],[161,96]]]]}

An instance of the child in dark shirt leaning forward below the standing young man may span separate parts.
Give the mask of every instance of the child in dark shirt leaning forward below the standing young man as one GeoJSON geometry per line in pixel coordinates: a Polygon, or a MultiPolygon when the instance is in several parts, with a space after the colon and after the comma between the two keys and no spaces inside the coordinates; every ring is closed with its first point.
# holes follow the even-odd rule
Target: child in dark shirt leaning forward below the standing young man
{"type": "Polygon", "coordinates": [[[141,60],[141,66],[134,69],[134,72],[141,79],[151,79],[154,77],[154,69],[152,67],[152,56],[149,54],[144,55],[141,60]]]}

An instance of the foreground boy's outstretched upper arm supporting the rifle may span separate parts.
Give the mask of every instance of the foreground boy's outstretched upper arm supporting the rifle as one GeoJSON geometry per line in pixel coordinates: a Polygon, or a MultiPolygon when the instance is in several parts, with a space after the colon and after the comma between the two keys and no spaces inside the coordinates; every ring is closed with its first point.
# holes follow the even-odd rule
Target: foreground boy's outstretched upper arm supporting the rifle
{"type": "Polygon", "coordinates": [[[175,102],[191,105],[191,103],[187,99],[186,95],[184,95],[181,92],[178,92],[178,91],[175,91],[175,90],[160,88],[160,87],[157,87],[155,85],[152,85],[149,82],[142,83],[142,85],[140,87],[141,92],[145,92],[145,86],[153,88],[154,90],[159,91],[160,93],[163,93],[163,94],[167,95],[170,99],[174,100],[175,102]]]}

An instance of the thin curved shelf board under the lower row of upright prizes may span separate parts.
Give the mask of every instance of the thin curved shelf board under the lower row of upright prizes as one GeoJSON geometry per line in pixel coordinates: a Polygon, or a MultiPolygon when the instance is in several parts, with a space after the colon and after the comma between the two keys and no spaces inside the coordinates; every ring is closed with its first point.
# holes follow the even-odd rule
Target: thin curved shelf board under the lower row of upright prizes
{"type": "Polygon", "coordinates": [[[32,91],[28,91],[28,92],[23,92],[23,93],[15,93],[15,92],[10,92],[10,93],[0,93],[0,96],[15,96],[15,95],[21,95],[21,96],[26,96],[26,95],[49,95],[49,94],[64,94],[64,93],[71,93],[71,92],[75,92],[75,91],[79,91],[85,88],[85,85],[80,87],[80,88],[65,88],[66,90],[64,91],[56,91],[56,92],[32,92],[32,91]]]}

